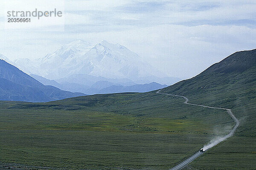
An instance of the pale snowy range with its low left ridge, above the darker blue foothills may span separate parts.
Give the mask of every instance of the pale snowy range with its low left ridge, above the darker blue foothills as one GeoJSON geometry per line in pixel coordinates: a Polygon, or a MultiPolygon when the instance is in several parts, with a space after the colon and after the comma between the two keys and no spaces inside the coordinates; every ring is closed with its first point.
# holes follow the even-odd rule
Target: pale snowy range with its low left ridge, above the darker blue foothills
{"type": "MultiPolygon", "coordinates": [[[[2,57],[2,59],[7,58],[2,57]]],[[[92,46],[89,42],[76,40],[41,59],[17,58],[10,64],[29,75],[35,74],[61,83],[89,86],[97,81],[108,81],[108,79],[116,79],[118,83],[158,82],[166,85],[180,81],[179,78],[168,77],[166,73],[154,68],[125,46],[107,41],[92,46]],[[97,81],[87,79],[91,84],[79,82],[79,79],[92,76],[97,77],[97,81]]]]}

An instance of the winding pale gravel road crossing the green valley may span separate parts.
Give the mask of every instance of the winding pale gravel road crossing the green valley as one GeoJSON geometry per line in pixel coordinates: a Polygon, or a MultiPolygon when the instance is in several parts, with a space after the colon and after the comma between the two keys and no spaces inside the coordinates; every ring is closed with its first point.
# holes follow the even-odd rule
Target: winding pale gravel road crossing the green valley
{"type": "MultiPolygon", "coordinates": [[[[227,135],[221,137],[220,139],[218,139],[218,140],[208,144],[207,146],[204,146],[204,151],[208,150],[211,147],[214,147],[218,143],[220,143],[220,142],[226,140],[227,138],[229,138],[230,136],[232,136],[235,133],[236,128],[240,124],[239,120],[233,115],[231,109],[216,108],[216,107],[210,107],[210,106],[205,106],[205,105],[196,105],[196,104],[188,103],[189,99],[186,98],[185,96],[180,96],[180,95],[175,95],[175,94],[167,94],[167,93],[160,93],[160,91],[161,91],[161,89],[159,91],[157,91],[157,94],[166,94],[166,95],[169,95],[169,96],[182,97],[183,99],[185,99],[185,102],[183,102],[183,103],[187,104],[187,105],[194,105],[194,106],[201,106],[201,107],[204,107],[204,108],[214,108],[214,109],[226,110],[227,113],[229,113],[229,115],[232,117],[232,119],[236,122],[236,125],[232,128],[232,130],[230,130],[230,133],[228,133],[227,135]]],[[[198,151],[197,153],[195,153],[194,155],[190,156],[185,161],[181,162],[180,164],[176,165],[175,167],[173,167],[173,168],[171,168],[169,170],[181,170],[183,167],[185,167],[187,164],[189,164],[190,162],[192,162],[193,160],[195,160],[198,156],[200,156],[202,154],[203,154],[203,152],[198,151]]]]}

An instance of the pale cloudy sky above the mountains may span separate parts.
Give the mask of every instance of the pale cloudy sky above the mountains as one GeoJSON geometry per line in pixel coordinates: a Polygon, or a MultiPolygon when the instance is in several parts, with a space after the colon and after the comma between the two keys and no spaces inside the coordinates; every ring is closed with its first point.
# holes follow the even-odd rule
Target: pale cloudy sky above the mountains
{"type": "Polygon", "coordinates": [[[9,59],[41,58],[73,40],[92,45],[107,40],[124,45],[169,76],[184,79],[233,52],[256,48],[255,0],[61,2],[64,31],[5,29],[6,14],[0,11],[0,54],[9,59]]]}

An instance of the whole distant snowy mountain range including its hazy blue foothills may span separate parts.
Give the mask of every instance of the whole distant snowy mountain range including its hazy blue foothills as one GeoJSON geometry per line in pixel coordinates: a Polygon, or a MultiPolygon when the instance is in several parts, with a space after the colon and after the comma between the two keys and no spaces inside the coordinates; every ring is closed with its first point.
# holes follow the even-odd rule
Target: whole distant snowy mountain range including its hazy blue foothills
{"type": "Polygon", "coordinates": [[[123,45],[76,40],[41,59],[3,59],[44,85],[85,94],[145,92],[180,81],[152,67],[123,45]],[[154,82],[154,83],[153,83],[154,82]]]}

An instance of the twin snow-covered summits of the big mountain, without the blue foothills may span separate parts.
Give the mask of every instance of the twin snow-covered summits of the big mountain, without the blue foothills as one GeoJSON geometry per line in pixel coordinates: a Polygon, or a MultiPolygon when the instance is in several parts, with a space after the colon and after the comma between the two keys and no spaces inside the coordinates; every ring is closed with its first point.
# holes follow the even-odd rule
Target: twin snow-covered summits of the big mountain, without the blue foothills
{"type": "Polygon", "coordinates": [[[132,80],[164,76],[123,45],[102,41],[90,50],[89,46],[79,40],[64,45],[53,54],[47,54],[40,64],[42,76],[60,79],[73,74],[88,74],[132,80]]]}

